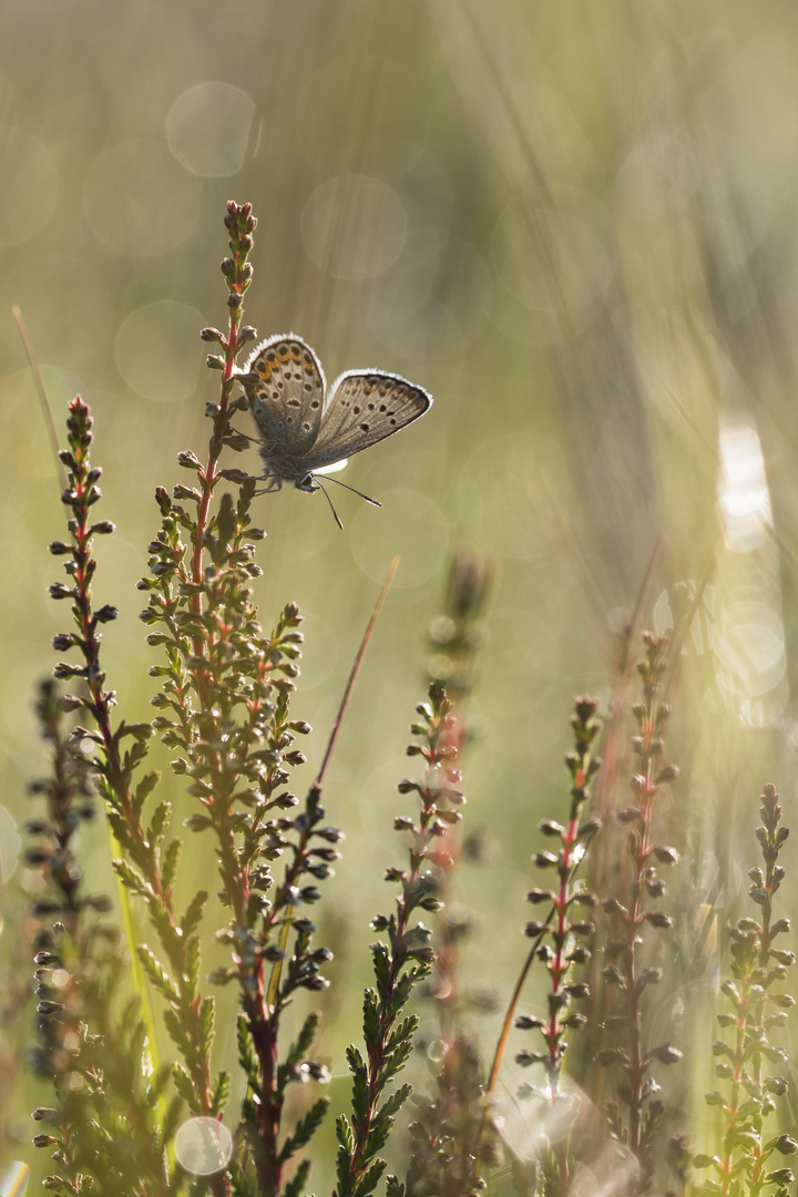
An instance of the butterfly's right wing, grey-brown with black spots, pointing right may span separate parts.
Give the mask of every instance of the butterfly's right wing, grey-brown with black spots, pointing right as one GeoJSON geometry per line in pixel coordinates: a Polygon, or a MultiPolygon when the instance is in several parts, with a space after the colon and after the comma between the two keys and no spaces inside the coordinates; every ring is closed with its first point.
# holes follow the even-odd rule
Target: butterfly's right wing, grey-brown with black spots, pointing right
{"type": "Polygon", "coordinates": [[[351,457],[418,420],[432,395],[400,375],[348,370],[336,378],[305,466],[309,473],[351,457]]]}

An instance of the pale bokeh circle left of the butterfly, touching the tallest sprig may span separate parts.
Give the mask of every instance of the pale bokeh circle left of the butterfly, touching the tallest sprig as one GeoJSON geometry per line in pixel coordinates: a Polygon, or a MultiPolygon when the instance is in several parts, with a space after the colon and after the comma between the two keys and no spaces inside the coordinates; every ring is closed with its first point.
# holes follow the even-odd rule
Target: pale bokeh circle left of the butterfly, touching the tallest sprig
{"type": "Polygon", "coordinates": [[[147,399],[177,402],[194,394],[202,361],[202,315],[171,299],[138,308],[116,335],[116,364],[147,399]]]}

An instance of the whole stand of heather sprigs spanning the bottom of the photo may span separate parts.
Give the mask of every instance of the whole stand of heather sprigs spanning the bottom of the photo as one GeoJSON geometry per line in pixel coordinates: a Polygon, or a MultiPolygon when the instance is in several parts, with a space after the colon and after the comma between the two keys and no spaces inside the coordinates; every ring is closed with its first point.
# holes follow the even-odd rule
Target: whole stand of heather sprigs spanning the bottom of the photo
{"type": "MultiPolygon", "coordinates": [[[[491,569],[474,551],[455,555],[444,610],[430,628],[426,698],[408,747],[418,772],[398,782],[402,803],[413,810],[404,807],[394,820],[403,856],[386,874],[396,900],[371,923],[373,982],[363,999],[363,1044],[347,1050],[348,1104],[330,1118],[336,1146],[318,1134],[331,1105],[318,1089],[330,1078],[329,1063],[316,1052],[331,952],[313,910],[327,900],[324,883],[342,851],[342,832],[327,821],[322,798],[390,577],[322,765],[306,794],[296,794],[294,770],[305,761],[298,740],[311,733],[294,706],[301,614],[287,602],[270,625],[261,622],[252,595],[263,540],[251,518],[257,480],[223,466],[223,454],[248,444],[232,421],[249,402],[238,356],[255,338],[243,323],[243,299],[256,220],[249,205],[231,202],[225,224],[227,327],[202,332],[218,346],[208,366],[221,375],[218,401],[207,406],[208,450],[203,460],[179,454],[190,484],[171,493],[158,487],[159,524],[139,583],[158,686],[148,722],[126,721],[106,682],[102,631],[118,612],[95,604],[93,545],[114,525],[97,515],[93,417],[80,399],[69,407],[61,452],[68,535],[50,546],[67,579],[50,594],[71,609],[72,624],[54,640],[65,660],[39,688],[49,773],[31,786],[25,850],[28,865],[41,875],[24,935],[37,999],[29,1064],[51,1090],[33,1113],[33,1142],[51,1157],[45,1189],[65,1197],[299,1197],[311,1184],[311,1167],[321,1165],[336,1197],[470,1197],[511,1189],[575,1197],[586,1175],[608,1191],[658,1191],[670,1167],[682,1193],[699,1191],[694,1169],[703,1168],[702,1192],[742,1197],[768,1189],[782,1197],[792,1175],[772,1157],[788,1155],[796,1143],[784,1116],[778,1123],[788,1069],[772,1038],[793,1005],[781,983],[794,958],[774,944],[790,925],[772,910],[785,877],[779,857],[787,832],[770,785],[757,831],[765,867],[750,873],[759,916],[732,930],[732,980],[723,985],[731,1013],[719,1020],[733,1028],[733,1041],[707,1045],[726,1084],[707,1099],[720,1118],[702,1135],[705,1155],[693,1155],[698,1135],[671,1135],[676,1112],[665,1065],[677,1067],[682,1049],[652,1038],[650,1002],[666,970],[680,967],[668,947],[675,916],[662,907],[658,871],[678,863],[660,802],[677,777],[665,759],[666,637],[642,637],[640,697],[631,711],[634,801],[615,804],[616,868],[605,880],[597,874],[601,887],[585,880],[589,856],[611,820],[592,809],[603,768],[601,704],[580,695],[571,716],[567,800],[540,824],[546,846],[532,856],[540,885],[528,900],[542,917],[524,929],[532,942],[519,953],[497,1044],[469,1009],[462,973],[473,932],[452,904],[457,875],[476,855],[474,832],[463,831],[463,760],[491,569]],[[69,693],[59,688],[65,682],[69,693]],[[165,796],[171,791],[148,767],[154,736],[172,754],[172,784],[194,803],[185,834],[165,796]],[[80,831],[100,812],[124,930],[83,869],[80,831]],[[215,893],[208,885],[181,899],[182,857],[194,836],[212,841],[215,893]],[[134,931],[139,911],[146,942],[134,931]],[[225,958],[208,971],[203,955],[212,936],[225,958]],[[220,986],[236,994],[234,1059],[220,1058],[217,1041],[220,986]],[[540,1013],[519,1013],[522,999],[535,1009],[535,992],[540,1013]],[[294,1023],[286,1015],[303,995],[319,1009],[294,1023]],[[513,1033],[514,1058],[530,1082],[512,1100],[541,1112],[543,1126],[526,1154],[502,1135],[495,1108],[513,1033]],[[433,1038],[434,1055],[424,1050],[433,1038]],[[579,1039],[601,1043],[601,1050],[579,1057],[574,1068],[579,1039]],[[779,1075],[769,1074],[770,1063],[780,1065],[779,1075]],[[597,1075],[605,1100],[591,1110],[587,1094],[601,1088],[597,1075]],[[766,1119],[774,1128],[767,1134],[766,1119]]],[[[506,912],[495,918],[505,920],[506,912]]],[[[19,1004],[17,992],[5,998],[17,1017],[19,1004]]]]}

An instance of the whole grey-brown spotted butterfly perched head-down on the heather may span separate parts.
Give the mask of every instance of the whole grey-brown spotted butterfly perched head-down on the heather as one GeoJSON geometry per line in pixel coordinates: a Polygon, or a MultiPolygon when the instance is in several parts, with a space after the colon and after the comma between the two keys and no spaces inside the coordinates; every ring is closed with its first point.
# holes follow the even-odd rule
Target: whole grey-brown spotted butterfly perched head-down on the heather
{"type": "MultiPolygon", "coordinates": [[[[342,469],[353,454],[392,436],[432,407],[426,390],[384,370],[347,370],[327,393],[321,361],[293,333],[261,341],[238,382],[257,429],[266,491],[279,491],[284,482],[307,493],[323,491],[339,527],[341,521],[316,475],[342,469]]],[[[360,491],[354,493],[379,506],[360,491]]]]}

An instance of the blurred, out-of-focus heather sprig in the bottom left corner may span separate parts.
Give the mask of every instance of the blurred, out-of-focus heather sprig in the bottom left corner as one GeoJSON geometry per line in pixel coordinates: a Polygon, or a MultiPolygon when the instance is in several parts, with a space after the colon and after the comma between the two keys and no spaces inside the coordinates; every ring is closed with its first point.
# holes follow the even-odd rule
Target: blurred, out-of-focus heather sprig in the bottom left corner
{"type": "Polygon", "coordinates": [[[153,1068],[138,999],[120,994],[126,961],[118,931],[102,919],[108,899],[86,891],[74,855],[73,840],[93,815],[96,767],[85,735],[65,725],[53,681],[42,685],[37,712],[51,774],[31,786],[45,810],[28,824],[25,855],[44,880],[31,910],[38,922],[31,1063],[55,1098],[33,1111],[44,1128],[33,1143],[51,1152],[57,1168],[44,1187],[62,1197],[95,1186],[167,1197],[177,1191],[165,1149],[179,1100],[166,1095],[169,1068],[153,1068]]]}

